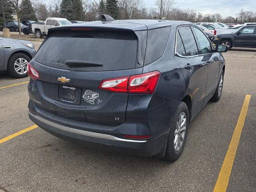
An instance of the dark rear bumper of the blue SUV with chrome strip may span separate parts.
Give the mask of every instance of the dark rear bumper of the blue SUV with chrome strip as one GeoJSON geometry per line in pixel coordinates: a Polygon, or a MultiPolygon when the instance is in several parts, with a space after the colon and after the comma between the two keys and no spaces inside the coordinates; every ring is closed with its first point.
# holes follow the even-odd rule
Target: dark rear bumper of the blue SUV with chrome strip
{"type": "MultiPolygon", "coordinates": [[[[42,109],[40,109],[40,111],[41,110],[42,109]]],[[[44,113],[50,112],[44,111],[44,113]]],[[[75,124],[64,125],[62,121],[58,121],[57,119],[50,120],[44,115],[45,114],[41,114],[38,111],[34,111],[33,113],[29,112],[30,120],[43,130],[61,139],[89,148],[120,154],[135,156],[154,156],[159,154],[158,156],[160,157],[164,155],[168,132],[162,133],[156,137],[152,135],[148,140],[132,140],[124,137],[121,138],[121,135],[120,137],[114,136],[111,130],[106,131],[106,129],[104,133],[87,131],[90,129],[88,127],[86,127],[87,130],[81,130],[81,127],[76,127],[75,124]]],[[[50,116],[52,118],[56,115],[50,113],[50,116]]],[[[74,122],[74,120],[70,120],[70,122],[74,122]]],[[[97,126],[99,126],[99,124],[97,124],[97,126]]],[[[102,127],[104,127],[104,125],[102,125],[102,127]]],[[[91,128],[91,130],[93,130],[93,128],[91,128]]]]}

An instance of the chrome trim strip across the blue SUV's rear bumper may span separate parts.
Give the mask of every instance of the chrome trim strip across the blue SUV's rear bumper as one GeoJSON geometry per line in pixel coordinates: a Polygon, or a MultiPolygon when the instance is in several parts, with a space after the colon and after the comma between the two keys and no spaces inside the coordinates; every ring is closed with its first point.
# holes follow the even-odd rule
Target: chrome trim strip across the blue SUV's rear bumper
{"type": "Polygon", "coordinates": [[[95,133],[95,132],[89,132],[89,131],[84,131],[84,130],[79,130],[79,129],[74,129],[74,128],[70,128],[70,127],[66,127],[54,122],[51,122],[49,120],[46,120],[40,116],[37,115],[33,115],[32,113],[29,112],[29,114],[36,118],[37,120],[44,122],[45,124],[48,124],[50,126],[53,126],[55,128],[58,128],[60,130],[66,131],[66,132],[70,132],[70,133],[75,133],[75,134],[80,134],[80,135],[84,135],[84,136],[89,136],[89,137],[95,137],[95,138],[100,138],[100,139],[107,139],[107,140],[114,140],[114,141],[123,141],[123,142],[134,142],[134,143],[145,143],[147,142],[146,140],[130,140],[130,139],[122,139],[122,138],[118,138],[112,135],[107,135],[107,134],[102,134],[102,133],[95,133]]]}

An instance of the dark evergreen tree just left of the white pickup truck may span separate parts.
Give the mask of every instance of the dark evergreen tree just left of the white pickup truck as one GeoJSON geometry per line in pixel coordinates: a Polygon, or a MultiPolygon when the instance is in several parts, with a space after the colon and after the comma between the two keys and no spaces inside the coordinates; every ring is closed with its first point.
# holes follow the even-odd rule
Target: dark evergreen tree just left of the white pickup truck
{"type": "Polygon", "coordinates": [[[36,17],[36,12],[30,0],[22,1],[22,12],[20,14],[20,21],[22,20],[38,21],[36,17]]]}

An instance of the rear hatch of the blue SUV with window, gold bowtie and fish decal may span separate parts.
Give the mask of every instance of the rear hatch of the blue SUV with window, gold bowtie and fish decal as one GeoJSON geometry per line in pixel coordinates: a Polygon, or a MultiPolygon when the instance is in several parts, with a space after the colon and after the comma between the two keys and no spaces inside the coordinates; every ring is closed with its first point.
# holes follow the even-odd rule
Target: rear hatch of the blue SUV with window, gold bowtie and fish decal
{"type": "Polygon", "coordinates": [[[54,31],[31,61],[40,79],[31,80],[30,99],[66,118],[121,124],[128,94],[99,90],[98,86],[107,78],[142,73],[138,45],[133,31],[54,31]]]}

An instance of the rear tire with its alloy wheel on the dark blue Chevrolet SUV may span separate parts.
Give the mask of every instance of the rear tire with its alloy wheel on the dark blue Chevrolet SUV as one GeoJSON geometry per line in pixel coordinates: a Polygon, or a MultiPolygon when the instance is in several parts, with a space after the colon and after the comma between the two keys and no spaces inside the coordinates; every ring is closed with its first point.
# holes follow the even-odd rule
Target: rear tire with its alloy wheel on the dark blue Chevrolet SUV
{"type": "Polygon", "coordinates": [[[189,124],[189,113],[188,113],[188,107],[186,103],[180,102],[176,113],[174,115],[174,118],[172,119],[170,132],[168,135],[167,140],[167,146],[166,146],[166,152],[165,152],[165,158],[168,161],[174,162],[176,161],[180,155],[182,154],[182,151],[184,149],[187,135],[188,135],[188,124],[189,124]],[[182,129],[185,130],[180,131],[182,129],[179,128],[178,124],[182,124],[182,116],[186,118],[184,121],[184,125],[182,126],[182,129]],[[180,123],[179,123],[180,122],[180,123]],[[180,145],[178,145],[179,135],[182,136],[183,141],[180,140],[180,145]],[[176,140],[176,143],[174,144],[174,141],[176,140]]]}

